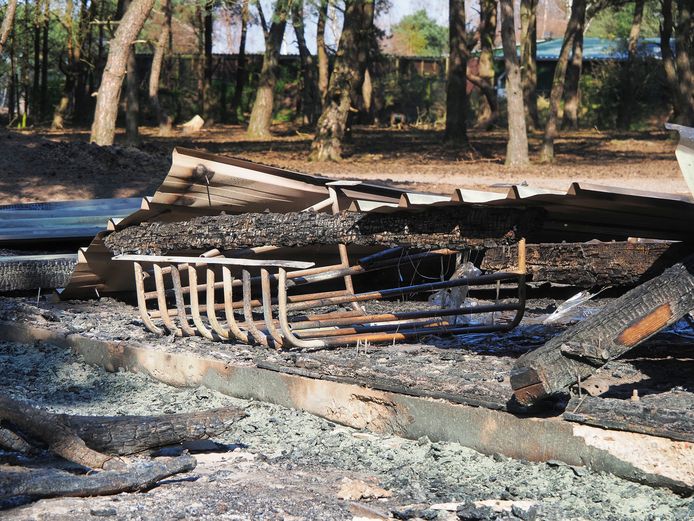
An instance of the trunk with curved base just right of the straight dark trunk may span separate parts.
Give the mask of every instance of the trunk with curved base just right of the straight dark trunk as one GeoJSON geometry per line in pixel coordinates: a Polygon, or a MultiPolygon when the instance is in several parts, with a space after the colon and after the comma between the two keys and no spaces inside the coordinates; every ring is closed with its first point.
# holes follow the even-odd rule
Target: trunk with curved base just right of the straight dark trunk
{"type": "Polygon", "coordinates": [[[480,1],[480,90],[485,103],[477,117],[477,126],[490,128],[499,116],[494,88],[494,37],[496,35],[496,0],[480,1]]]}

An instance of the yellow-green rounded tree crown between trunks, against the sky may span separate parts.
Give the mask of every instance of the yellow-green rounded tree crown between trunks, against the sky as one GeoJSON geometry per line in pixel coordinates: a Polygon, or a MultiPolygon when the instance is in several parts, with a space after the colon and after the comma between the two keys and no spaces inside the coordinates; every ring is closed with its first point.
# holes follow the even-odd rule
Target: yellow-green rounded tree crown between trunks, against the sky
{"type": "Polygon", "coordinates": [[[448,48],[448,29],[421,9],[402,18],[392,28],[396,54],[441,56],[448,48]]]}

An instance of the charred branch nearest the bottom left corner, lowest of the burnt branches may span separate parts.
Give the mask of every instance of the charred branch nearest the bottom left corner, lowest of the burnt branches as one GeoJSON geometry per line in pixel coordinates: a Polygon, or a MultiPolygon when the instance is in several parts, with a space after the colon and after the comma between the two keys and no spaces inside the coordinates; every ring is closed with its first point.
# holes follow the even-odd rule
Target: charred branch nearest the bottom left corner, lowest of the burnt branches
{"type": "MultiPolygon", "coordinates": [[[[17,497],[88,497],[152,488],[164,478],[193,470],[195,458],[135,461],[122,470],[104,470],[86,475],[57,469],[0,471],[0,499],[17,497]]],[[[1,505],[1,503],[0,503],[1,505]]]]}

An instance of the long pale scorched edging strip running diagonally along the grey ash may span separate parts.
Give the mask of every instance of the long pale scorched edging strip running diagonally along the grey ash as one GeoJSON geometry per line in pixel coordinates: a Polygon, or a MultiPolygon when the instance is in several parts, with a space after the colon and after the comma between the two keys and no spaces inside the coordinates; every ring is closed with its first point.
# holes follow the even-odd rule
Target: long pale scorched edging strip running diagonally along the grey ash
{"type": "Polygon", "coordinates": [[[603,429],[561,418],[509,412],[243,366],[190,352],[167,352],[56,329],[0,322],[0,339],[69,348],[107,371],[146,374],[176,387],[206,386],[242,399],[304,410],[330,421],[410,439],[457,442],[483,454],[563,461],[621,478],[694,493],[694,445],[603,429]],[[647,456],[647,457],[645,457],[647,456]]]}

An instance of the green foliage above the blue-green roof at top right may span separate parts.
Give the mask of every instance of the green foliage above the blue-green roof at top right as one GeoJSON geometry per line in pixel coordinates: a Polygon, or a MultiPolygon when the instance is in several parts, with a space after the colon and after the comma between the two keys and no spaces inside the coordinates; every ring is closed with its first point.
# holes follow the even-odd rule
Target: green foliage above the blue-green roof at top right
{"type": "MultiPolygon", "coordinates": [[[[586,36],[596,38],[628,38],[634,17],[634,4],[627,3],[620,7],[608,7],[600,11],[589,24],[586,36]]],[[[660,22],[660,3],[658,0],[646,0],[641,21],[641,38],[657,38],[660,22]]]]}

